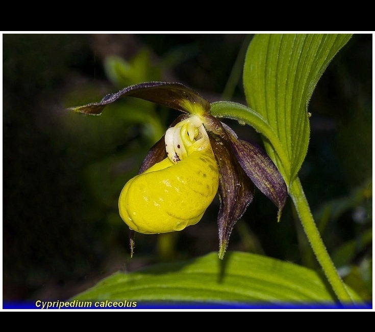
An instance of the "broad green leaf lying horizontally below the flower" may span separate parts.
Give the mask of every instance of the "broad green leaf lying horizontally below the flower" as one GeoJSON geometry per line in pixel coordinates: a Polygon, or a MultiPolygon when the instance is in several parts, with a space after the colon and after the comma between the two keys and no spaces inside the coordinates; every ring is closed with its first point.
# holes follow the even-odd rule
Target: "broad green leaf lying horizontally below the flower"
{"type": "MultiPolygon", "coordinates": [[[[353,296],[358,298],[354,292],[353,296]]],[[[206,303],[333,303],[320,276],[305,267],[247,253],[217,253],[187,262],[117,272],[76,300],[206,303]]]]}

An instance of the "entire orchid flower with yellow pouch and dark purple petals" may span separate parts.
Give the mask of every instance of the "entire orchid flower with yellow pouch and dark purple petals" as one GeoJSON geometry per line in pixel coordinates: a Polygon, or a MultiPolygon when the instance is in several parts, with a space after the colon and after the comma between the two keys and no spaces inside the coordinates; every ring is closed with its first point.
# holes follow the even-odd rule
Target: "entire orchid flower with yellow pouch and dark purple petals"
{"type": "MultiPolygon", "coordinates": [[[[219,257],[254,196],[256,185],[279,209],[287,198],[283,177],[257,145],[241,140],[210,114],[210,103],[179,83],[146,82],[70,110],[98,115],[120,97],[136,97],[183,112],[146,155],[139,174],[123,187],[119,213],[144,234],[181,231],[201,220],[218,191],[219,257]]],[[[140,110],[141,112],[141,110],[140,110]]]]}

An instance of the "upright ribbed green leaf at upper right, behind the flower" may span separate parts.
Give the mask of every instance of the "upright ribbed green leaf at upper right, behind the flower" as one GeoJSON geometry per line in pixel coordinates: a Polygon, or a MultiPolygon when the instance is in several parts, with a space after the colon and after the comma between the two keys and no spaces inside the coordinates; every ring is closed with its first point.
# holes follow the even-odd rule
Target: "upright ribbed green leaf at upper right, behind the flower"
{"type": "Polygon", "coordinates": [[[305,159],[310,136],[307,107],[317,81],[349,34],[259,34],[247,49],[244,91],[278,144],[264,144],[289,186],[305,159]],[[287,159],[287,160],[285,160],[287,159]]]}

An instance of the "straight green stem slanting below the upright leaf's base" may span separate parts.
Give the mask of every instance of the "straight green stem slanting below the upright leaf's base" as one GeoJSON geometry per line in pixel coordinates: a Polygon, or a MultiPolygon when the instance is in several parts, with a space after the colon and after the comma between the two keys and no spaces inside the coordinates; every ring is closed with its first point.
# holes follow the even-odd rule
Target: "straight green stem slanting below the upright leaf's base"
{"type": "Polygon", "coordinates": [[[353,303],[354,300],[349,295],[344,283],[338,275],[336,268],[328,255],[327,249],[323,244],[319,231],[315,225],[313,216],[311,214],[309,204],[307,202],[301,182],[298,178],[293,180],[289,186],[289,196],[292,198],[294,206],[297,210],[299,219],[301,219],[306,236],[310,242],[311,248],[322,267],[324,274],[326,274],[329,283],[331,284],[337,298],[342,303],[353,303]]]}

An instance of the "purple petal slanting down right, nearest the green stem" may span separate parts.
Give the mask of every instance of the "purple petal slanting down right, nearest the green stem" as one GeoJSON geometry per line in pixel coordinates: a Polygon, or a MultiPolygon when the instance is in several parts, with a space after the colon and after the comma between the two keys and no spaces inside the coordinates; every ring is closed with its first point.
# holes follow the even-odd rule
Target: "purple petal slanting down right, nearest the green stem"
{"type": "Polygon", "coordinates": [[[280,220],[288,189],[276,165],[257,144],[240,140],[232,133],[229,136],[233,151],[243,170],[258,189],[278,207],[278,220],[280,220]]]}

